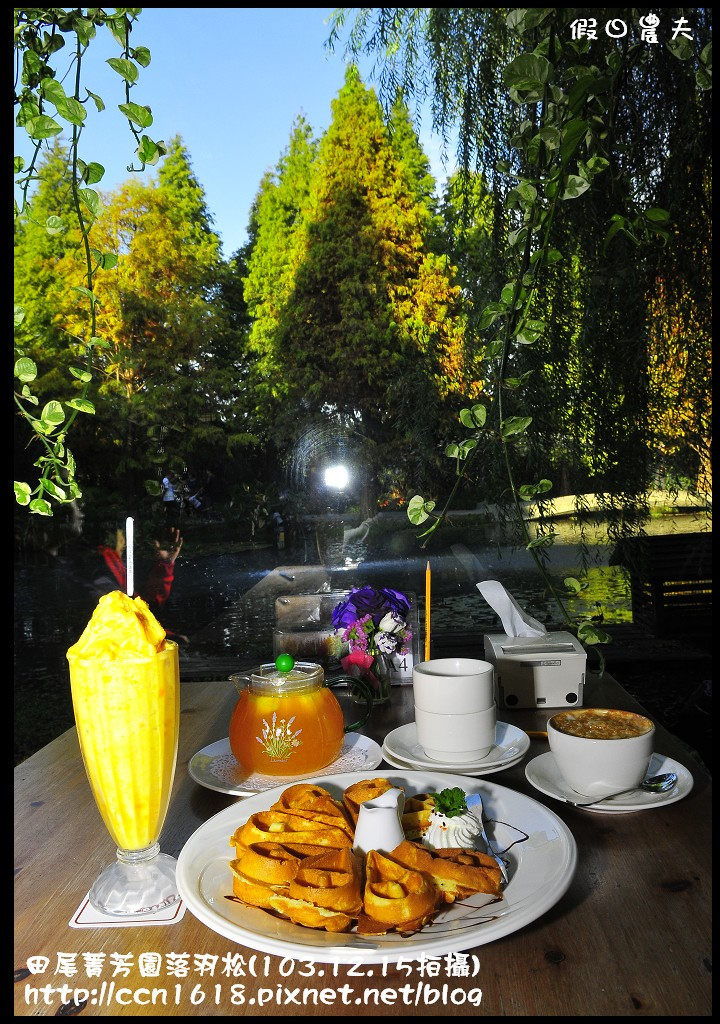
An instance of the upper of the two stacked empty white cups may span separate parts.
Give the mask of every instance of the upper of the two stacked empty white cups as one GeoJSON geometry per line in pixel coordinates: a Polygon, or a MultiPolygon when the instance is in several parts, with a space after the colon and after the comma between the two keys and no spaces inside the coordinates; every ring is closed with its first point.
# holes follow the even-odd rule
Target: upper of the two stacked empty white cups
{"type": "Polygon", "coordinates": [[[494,670],[474,657],[437,657],[413,668],[415,707],[436,715],[486,711],[495,703],[494,670]]]}

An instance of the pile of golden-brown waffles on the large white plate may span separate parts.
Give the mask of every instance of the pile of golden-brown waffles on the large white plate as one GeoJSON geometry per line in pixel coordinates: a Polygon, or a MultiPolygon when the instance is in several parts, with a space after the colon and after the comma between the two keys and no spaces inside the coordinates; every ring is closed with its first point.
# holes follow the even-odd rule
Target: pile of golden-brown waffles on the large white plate
{"type": "Polygon", "coordinates": [[[342,802],[322,786],[285,790],[267,811],[251,815],[230,837],[234,896],[305,928],[359,935],[412,935],[438,910],[473,893],[500,896],[496,861],[475,850],[429,850],[415,842],[427,828],[434,801],[406,801],[408,837],[388,854],[353,851],[361,804],[392,783],[385,778],[349,786],[342,802]]]}

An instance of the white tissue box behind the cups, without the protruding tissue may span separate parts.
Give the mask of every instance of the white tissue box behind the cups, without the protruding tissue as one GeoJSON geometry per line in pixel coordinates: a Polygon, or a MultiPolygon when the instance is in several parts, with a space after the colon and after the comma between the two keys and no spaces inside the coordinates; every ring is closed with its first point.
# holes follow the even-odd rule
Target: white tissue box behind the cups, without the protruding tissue
{"type": "Polygon", "coordinates": [[[571,633],[485,636],[498,708],[582,708],[587,654],[571,633]]]}

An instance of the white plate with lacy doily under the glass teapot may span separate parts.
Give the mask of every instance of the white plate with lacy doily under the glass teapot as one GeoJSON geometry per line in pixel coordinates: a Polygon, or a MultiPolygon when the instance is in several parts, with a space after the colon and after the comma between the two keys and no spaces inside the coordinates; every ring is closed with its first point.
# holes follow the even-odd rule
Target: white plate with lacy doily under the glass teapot
{"type": "Polygon", "coordinates": [[[256,793],[273,790],[281,783],[288,786],[308,778],[323,778],[325,775],[337,775],[343,771],[369,771],[371,768],[377,768],[381,761],[382,750],[374,739],[363,736],[359,732],[348,732],[337,760],[322,771],[305,775],[286,775],[282,778],[278,775],[261,775],[259,772],[248,774],[236,761],[230,751],[230,741],[225,737],[198,751],[190,758],[187,770],[192,778],[207,790],[226,793],[230,797],[250,797],[256,793]]]}

